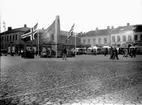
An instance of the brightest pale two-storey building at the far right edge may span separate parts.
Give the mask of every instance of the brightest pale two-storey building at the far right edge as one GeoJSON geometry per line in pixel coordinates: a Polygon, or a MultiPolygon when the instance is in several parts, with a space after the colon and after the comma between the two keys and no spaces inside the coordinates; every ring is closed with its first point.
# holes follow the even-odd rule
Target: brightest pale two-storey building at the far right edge
{"type": "MultiPolygon", "coordinates": [[[[120,26],[111,33],[111,45],[112,46],[129,46],[142,42],[141,34],[142,30],[136,30],[142,25],[130,25],[120,26]]],[[[141,29],[141,28],[140,28],[141,29]]]]}

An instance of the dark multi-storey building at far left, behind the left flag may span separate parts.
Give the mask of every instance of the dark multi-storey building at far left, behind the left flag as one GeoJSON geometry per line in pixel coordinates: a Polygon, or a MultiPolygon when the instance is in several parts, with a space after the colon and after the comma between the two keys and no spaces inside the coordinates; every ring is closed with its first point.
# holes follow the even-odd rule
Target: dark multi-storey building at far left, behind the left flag
{"type": "Polygon", "coordinates": [[[7,31],[0,33],[1,51],[5,50],[8,53],[11,53],[12,51],[18,52],[18,50],[20,50],[22,47],[21,45],[24,44],[24,42],[21,40],[21,35],[29,29],[30,28],[28,28],[26,25],[16,29],[8,27],[7,31]]]}

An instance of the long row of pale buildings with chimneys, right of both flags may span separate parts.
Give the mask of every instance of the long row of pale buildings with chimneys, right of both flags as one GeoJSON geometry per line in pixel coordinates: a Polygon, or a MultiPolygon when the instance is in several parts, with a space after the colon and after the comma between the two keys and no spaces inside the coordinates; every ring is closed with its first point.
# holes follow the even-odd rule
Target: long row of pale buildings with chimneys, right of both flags
{"type": "Polygon", "coordinates": [[[142,45],[142,25],[113,26],[107,29],[89,31],[80,35],[81,43],[90,46],[119,46],[142,45]]]}

